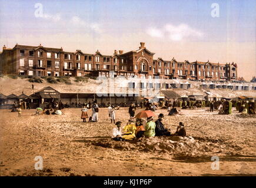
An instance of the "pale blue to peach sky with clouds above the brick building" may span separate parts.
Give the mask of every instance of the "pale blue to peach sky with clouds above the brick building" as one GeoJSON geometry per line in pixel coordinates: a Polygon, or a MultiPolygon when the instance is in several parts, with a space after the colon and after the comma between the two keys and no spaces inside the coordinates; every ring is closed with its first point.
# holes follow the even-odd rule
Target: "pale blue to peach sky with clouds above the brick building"
{"type": "Polygon", "coordinates": [[[112,55],[145,42],[154,59],[235,62],[238,76],[256,76],[254,0],[0,0],[0,5],[0,46],[7,48],[41,43],[112,55]]]}

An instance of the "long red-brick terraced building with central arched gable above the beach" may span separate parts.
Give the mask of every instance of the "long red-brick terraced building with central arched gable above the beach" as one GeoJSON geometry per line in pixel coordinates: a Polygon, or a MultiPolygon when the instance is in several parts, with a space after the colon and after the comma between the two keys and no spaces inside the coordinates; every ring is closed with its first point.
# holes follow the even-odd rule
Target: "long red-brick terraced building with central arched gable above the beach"
{"type": "Polygon", "coordinates": [[[5,46],[0,53],[2,75],[34,76],[109,76],[124,75],[138,78],[194,79],[194,80],[235,80],[236,63],[178,62],[174,58],[165,61],[154,59],[155,53],[141,42],[136,51],[114,51],[113,55],[84,53],[81,50],[66,52],[62,48],[45,48],[16,44],[9,49],[5,46]]]}

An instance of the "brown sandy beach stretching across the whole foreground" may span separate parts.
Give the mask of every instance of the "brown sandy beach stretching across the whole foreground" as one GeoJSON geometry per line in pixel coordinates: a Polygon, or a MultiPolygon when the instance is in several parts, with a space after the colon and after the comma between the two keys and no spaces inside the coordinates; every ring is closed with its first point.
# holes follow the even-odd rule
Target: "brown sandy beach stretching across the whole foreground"
{"type": "MultiPolygon", "coordinates": [[[[163,123],[172,133],[184,122],[187,137],[115,142],[107,108],[99,109],[97,123],[83,123],[81,109],[62,112],[36,116],[33,109],[23,110],[18,117],[16,112],[0,111],[1,176],[256,175],[255,115],[218,115],[202,108],[167,116],[166,109],[158,109],[155,120],[164,113],[163,123]],[[35,170],[36,156],[42,156],[43,170],[35,170]],[[212,156],[219,157],[219,170],[212,170],[212,156]]],[[[128,118],[128,108],[116,111],[122,125],[128,118]]]]}

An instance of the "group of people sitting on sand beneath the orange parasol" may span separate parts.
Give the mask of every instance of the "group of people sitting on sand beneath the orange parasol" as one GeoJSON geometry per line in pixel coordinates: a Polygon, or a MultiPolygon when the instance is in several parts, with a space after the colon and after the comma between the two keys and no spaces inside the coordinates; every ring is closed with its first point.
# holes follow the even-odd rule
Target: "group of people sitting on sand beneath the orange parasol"
{"type": "Polygon", "coordinates": [[[140,137],[152,137],[152,136],[186,136],[186,130],[184,124],[179,122],[179,126],[174,134],[171,134],[171,131],[164,127],[162,120],[164,115],[159,114],[158,119],[154,122],[153,117],[147,118],[147,123],[145,127],[143,126],[143,120],[137,118],[135,123],[134,119],[131,118],[128,120],[127,125],[123,128],[122,122],[118,121],[115,123],[116,127],[112,130],[112,139],[116,141],[123,140],[134,140],[139,139],[140,137]]]}

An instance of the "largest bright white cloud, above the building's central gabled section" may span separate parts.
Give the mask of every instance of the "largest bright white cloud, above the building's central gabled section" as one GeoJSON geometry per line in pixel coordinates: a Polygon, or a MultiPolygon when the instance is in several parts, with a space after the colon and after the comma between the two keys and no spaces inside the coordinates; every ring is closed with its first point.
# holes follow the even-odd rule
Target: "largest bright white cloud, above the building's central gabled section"
{"type": "Polygon", "coordinates": [[[149,28],[148,35],[154,38],[169,38],[172,41],[182,41],[185,38],[201,38],[204,34],[197,29],[191,28],[187,24],[179,24],[178,26],[167,24],[163,28],[149,28]]]}

